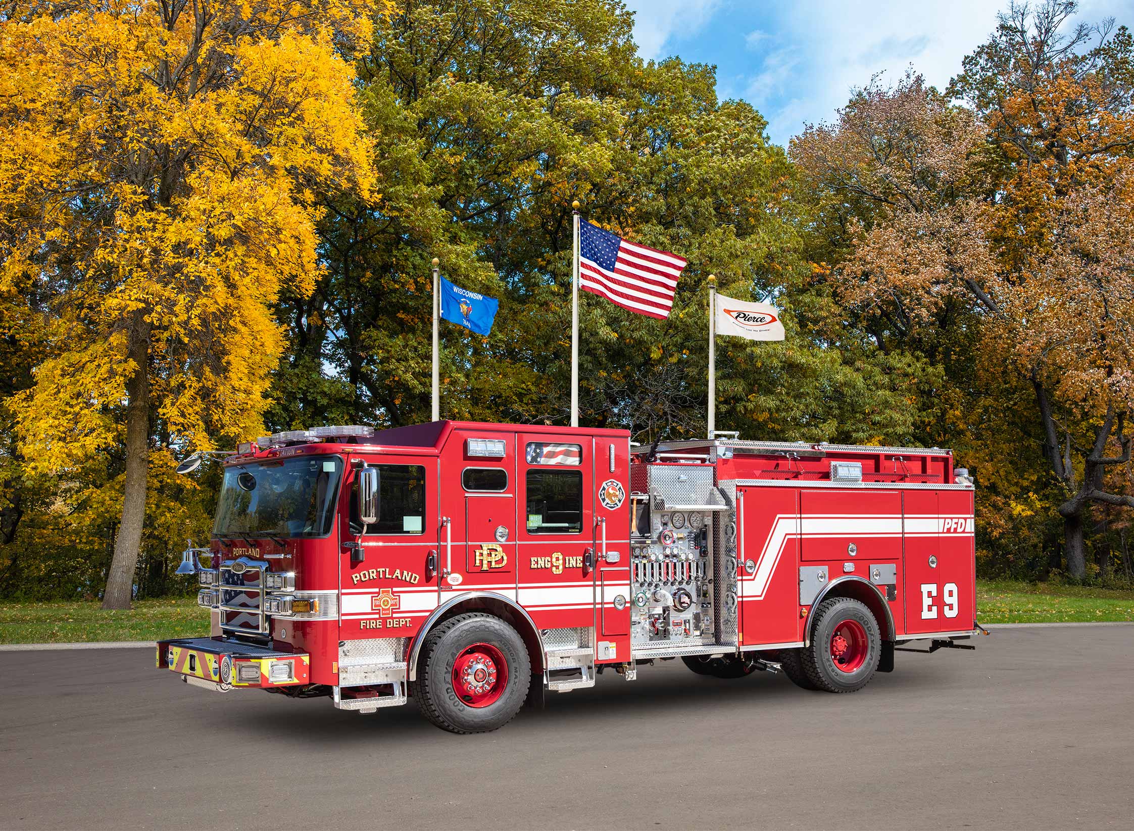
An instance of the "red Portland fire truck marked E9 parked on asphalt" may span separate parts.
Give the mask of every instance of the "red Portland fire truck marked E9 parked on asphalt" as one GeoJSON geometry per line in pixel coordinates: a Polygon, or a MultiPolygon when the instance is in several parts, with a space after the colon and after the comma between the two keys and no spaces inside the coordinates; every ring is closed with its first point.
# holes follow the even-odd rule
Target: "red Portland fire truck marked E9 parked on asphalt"
{"type": "Polygon", "coordinates": [[[973,484],[938,448],[440,421],[290,431],[223,461],[213,636],[158,665],[228,692],[414,696],[454,732],[680,658],[850,693],[903,642],[964,646],[973,484]]]}

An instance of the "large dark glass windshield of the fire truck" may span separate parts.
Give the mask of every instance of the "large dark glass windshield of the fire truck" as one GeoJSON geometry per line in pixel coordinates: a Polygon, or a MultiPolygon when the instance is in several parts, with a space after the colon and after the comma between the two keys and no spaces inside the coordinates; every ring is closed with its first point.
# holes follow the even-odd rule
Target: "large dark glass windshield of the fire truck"
{"type": "Polygon", "coordinates": [[[213,535],[325,536],[341,474],[337,456],[234,465],[225,470],[213,535]]]}

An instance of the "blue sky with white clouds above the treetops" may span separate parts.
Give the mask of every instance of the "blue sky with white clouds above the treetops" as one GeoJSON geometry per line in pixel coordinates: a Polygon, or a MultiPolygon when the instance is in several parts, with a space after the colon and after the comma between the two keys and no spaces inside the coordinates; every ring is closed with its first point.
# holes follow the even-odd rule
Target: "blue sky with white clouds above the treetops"
{"type": "MultiPolygon", "coordinates": [[[[830,120],[852,86],[906,66],[943,87],[996,26],[1007,0],[626,0],[646,59],[717,65],[717,92],[741,97],[786,144],[804,122],[830,120]]],[[[1088,23],[1134,28],[1134,0],[1083,0],[1088,23]]]]}

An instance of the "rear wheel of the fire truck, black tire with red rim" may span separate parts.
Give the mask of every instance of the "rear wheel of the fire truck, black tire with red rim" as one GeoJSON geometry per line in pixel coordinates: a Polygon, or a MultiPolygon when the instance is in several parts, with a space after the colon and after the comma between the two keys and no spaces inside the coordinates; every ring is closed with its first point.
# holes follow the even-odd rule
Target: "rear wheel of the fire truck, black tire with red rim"
{"type": "Polygon", "coordinates": [[[881,655],[878,621],[865,603],[849,597],[831,597],[819,604],[812,614],[811,646],[801,650],[807,680],[827,693],[854,693],[865,687],[874,677],[881,655]],[[844,659],[836,654],[837,633],[854,645],[841,653],[844,659]],[[845,669],[844,661],[855,664],[854,669],[845,669]]]}

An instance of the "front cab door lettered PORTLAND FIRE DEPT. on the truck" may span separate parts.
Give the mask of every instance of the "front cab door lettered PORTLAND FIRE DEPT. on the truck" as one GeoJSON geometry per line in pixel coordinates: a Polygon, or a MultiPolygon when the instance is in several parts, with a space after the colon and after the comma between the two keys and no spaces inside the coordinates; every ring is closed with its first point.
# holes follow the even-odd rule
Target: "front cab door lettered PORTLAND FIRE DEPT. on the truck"
{"type": "Polygon", "coordinates": [[[367,463],[379,472],[379,522],[358,522],[352,465],[339,523],[340,639],[401,638],[417,633],[438,604],[439,511],[437,457],[367,463]]]}

